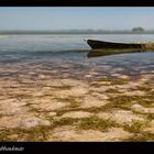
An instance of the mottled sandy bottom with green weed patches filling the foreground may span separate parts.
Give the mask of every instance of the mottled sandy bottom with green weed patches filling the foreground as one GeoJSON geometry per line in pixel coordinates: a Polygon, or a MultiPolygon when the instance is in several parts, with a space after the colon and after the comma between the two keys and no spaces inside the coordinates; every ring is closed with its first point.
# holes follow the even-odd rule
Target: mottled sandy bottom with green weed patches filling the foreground
{"type": "Polygon", "coordinates": [[[154,141],[154,72],[92,66],[1,64],[0,141],[154,141]]]}

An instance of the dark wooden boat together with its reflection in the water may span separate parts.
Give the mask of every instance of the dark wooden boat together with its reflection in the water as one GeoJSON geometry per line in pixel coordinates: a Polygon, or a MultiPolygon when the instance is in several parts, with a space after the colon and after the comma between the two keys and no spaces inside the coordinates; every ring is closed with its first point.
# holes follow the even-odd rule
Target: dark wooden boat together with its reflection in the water
{"type": "Polygon", "coordinates": [[[116,43],[97,40],[85,40],[91,47],[87,57],[107,56],[114,54],[154,52],[154,42],[146,43],[116,43]]]}

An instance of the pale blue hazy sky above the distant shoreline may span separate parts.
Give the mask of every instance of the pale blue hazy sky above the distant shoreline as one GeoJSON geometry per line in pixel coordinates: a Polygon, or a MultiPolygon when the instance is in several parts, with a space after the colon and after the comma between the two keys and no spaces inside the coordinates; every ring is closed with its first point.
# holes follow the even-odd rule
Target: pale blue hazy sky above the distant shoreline
{"type": "Polygon", "coordinates": [[[154,30],[154,7],[0,7],[1,30],[154,30]]]}

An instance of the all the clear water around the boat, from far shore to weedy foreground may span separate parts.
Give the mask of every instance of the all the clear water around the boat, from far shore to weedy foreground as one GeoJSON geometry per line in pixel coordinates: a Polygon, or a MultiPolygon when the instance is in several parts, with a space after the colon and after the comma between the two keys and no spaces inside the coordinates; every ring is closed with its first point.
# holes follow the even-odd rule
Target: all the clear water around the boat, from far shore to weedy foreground
{"type": "Polygon", "coordinates": [[[0,36],[1,141],[154,141],[154,53],[87,58],[85,37],[145,38],[0,36]]]}

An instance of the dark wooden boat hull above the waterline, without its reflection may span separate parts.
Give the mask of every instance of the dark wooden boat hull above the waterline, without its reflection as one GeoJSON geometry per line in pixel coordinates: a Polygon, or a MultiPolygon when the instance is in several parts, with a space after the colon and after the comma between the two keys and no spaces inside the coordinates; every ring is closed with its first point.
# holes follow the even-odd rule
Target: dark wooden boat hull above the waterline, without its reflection
{"type": "Polygon", "coordinates": [[[103,50],[154,50],[154,42],[147,43],[116,43],[116,42],[105,42],[97,40],[86,40],[88,45],[92,50],[103,48],[103,50]]]}

